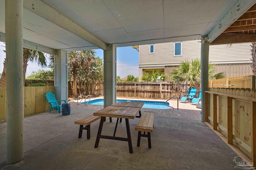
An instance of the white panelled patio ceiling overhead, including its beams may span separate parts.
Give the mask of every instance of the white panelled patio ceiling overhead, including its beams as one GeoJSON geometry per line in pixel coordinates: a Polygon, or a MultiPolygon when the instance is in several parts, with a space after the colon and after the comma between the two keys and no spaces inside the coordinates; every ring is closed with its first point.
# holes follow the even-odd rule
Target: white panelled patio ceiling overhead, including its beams
{"type": "MultiPolygon", "coordinates": [[[[232,34],[222,32],[232,30],[239,22],[244,24],[245,19],[236,20],[246,16],[244,13],[255,2],[24,0],[24,47],[56,54],[56,49],[106,50],[108,44],[124,47],[201,39],[201,35],[208,35],[208,43],[223,43],[223,39],[220,42],[216,38],[232,34]]],[[[0,0],[0,41],[5,41],[4,4],[5,1],[0,0]]],[[[251,8],[253,13],[254,8],[251,8]]],[[[250,26],[255,26],[254,22],[250,26]]]]}

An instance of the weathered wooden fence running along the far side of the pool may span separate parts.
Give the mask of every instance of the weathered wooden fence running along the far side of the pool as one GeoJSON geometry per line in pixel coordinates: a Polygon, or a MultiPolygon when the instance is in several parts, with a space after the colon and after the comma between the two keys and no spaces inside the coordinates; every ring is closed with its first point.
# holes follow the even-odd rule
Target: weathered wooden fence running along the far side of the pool
{"type": "MultiPolygon", "coordinates": [[[[168,82],[121,82],[116,84],[116,96],[117,97],[137,97],[137,98],[158,98],[158,99],[169,99],[173,96],[182,96],[186,94],[190,84],[173,84],[168,82]]],[[[200,90],[200,85],[194,86],[200,90]]],[[[92,90],[92,95],[99,96],[104,95],[103,83],[98,83],[92,90]]]]}

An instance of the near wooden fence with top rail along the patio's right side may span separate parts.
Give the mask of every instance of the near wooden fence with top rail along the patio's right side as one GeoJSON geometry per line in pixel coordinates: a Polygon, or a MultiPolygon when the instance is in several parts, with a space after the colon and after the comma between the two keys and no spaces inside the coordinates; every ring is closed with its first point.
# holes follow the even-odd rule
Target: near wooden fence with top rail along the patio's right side
{"type": "Polygon", "coordinates": [[[209,88],[205,95],[205,122],[252,159],[255,166],[256,90],[209,88]]]}

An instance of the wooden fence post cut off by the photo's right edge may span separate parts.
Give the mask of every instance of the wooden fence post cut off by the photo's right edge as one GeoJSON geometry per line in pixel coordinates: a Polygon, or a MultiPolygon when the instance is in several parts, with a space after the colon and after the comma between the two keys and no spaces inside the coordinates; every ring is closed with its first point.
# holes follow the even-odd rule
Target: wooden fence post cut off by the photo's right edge
{"type": "Polygon", "coordinates": [[[256,166],[256,102],[252,104],[252,161],[256,166]]]}

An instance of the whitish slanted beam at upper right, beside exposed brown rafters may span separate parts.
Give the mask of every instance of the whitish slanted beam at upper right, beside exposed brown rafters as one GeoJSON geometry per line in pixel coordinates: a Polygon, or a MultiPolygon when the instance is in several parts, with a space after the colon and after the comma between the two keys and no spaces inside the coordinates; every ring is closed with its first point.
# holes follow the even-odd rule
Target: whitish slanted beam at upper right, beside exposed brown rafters
{"type": "Polygon", "coordinates": [[[219,23],[208,34],[208,43],[211,43],[221,33],[223,33],[232,23],[234,23],[242,14],[249,10],[256,0],[238,0],[227,14],[219,21],[219,23]]]}

